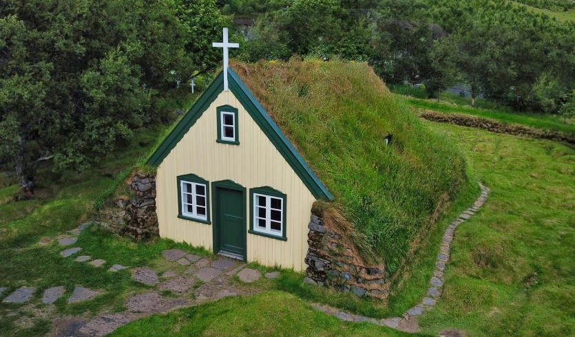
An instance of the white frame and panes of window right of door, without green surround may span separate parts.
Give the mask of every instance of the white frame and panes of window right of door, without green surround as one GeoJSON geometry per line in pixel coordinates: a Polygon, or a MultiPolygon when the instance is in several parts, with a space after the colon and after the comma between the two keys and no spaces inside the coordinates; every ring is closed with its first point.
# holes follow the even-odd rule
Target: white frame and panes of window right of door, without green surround
{"type": "Polygon", "coordinates": [[[253,193],[253,230],[282,237],[284,230],[284,199],[253,193]]]}

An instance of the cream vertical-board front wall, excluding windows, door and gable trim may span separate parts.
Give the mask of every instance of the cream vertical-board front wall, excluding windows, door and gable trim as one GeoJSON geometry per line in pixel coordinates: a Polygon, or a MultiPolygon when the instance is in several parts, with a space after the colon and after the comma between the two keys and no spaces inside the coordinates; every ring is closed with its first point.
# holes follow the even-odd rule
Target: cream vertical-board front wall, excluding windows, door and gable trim
{"type": "MultiPolygon", "coordinates": [[[[284,157],[275,149],[258,124],[240,105],[231,91],[222,91],[158,167],[156,205],[160,236],[185,241],[192,246],[213,248],[213,224],[200,224],[178,219],[178,186],[176,177],[194,173],[205,180],[233,180],[247,188],[247,227],[249,188],[270,186],[287,195],[287,241],[247,233],[247,259],[264,265],[304,270],[308,250],[307,224],[315,198],[297,177],[284,157]],[[216,142],[216,107],[231,105],[238,109],[240,145],[216,142]]],[[[213,191],[210,186],[210,199],[213,191]]],[[[210,204],[210,217],[213,210],[210,204]]]]}

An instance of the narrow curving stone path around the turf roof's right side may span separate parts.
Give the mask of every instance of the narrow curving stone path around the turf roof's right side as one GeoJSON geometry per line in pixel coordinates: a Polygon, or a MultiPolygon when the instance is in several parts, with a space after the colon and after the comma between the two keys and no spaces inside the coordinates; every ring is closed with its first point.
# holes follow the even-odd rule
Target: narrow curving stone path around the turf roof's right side
{"type": "MultiPolygon", "coordinates": [[[[417,316],[421,316],[426,310],[432,309],[441,298],[441,294],[443,294],[443,270],[445,270],[446,265],[449,261],[450,257],[450,248],[451,242],[454,239],[455,230],[457,226],[462,224],[463,222],[470,219],[479,209],[485,204],[485,200],[487,199],[489,188],[483,186],[483,184],[479,183],[481,187],[481,195],[476,200],[471,208],[468,208],[463,213],[461,213],[457,220],[453,221],[448,229],[446,229],[443,238],[441,239],[441,243],[439,246],[439,254],[437,254],[437,259],[435,261],[435,270],[433,271],[433,276],[431,277],[429,284],[430,287],[427,291],[427,296],[421,299],[421,302],[412,307],[407,312],[403,314],[402,317],[392,317],[392,318],[384,318],[382,320],[376,320],[374,318],[368,318],[364,316],[357,316],[353,314],[348,314],[346,312],[341,312],[333,307],[329,307],[327,305],[319,305],[313,303],[312,306],[315,309],[321,310],[328,315],[335,316],[341,320],[348,320],[350,322],[370,322],[377,325],[386,325],[387,327],[391,327],[393,329],[398,329],[401,331],[406,332],[417,332],[419,331],[419,325],[417,324],[417,316]]],[[[460,331],[462,334],[455,334],[457,330],[450,330],[450,336],[465,336],[463,331],[460,331]]],[[[440,333],[441,334],[441,333],[440,333]]]]}

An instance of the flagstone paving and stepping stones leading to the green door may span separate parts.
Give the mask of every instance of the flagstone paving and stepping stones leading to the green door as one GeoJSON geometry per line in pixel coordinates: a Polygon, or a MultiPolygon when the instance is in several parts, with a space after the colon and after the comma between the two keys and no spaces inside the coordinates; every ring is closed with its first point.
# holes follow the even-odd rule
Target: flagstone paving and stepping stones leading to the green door
{"type": "MultiPolygon", "coordinates": [[[[79,235],[88,226],[90,225],[83,224],[70,232],[72,235],[79,235]]],[[[173,263],[174,270],[167,270],[158,275],[155,270],[147,267],[130,268],[125,265],[114,264],[107,268],[109,265],[105,260],[82,255],[82,248],[73,247],[78,240],[77,237],[59,235],[52,239],[43,238],[40,244],[45,245],[54,240],[58,241],[60,246],[66,247],[60,253],[63,258],[74,259],[79,263],[89,263],[94,268],[101,268],[103,272],[130,270],[134,281],[144,283],[150,289],[143,294],[129,296],[125,302],[127,307],[125,312],[104,313],[96,316],[96,318],[76,316],[56,318],[52,322],[50,336],[104,336],[122,325],[152,314],[165,313],[179,307],[189,307],[207,301],[216,301],[227,296],[251,296],[259,292],[258,287],[245,287],[242,284],[258,281],[262,274],[258,270],[246,268],[245,263],[241,261],[226,257],[218,257],[218,259],[213,260],[209,257],[189,254],[180,249],[165,250],[162,255],[168,264],[173,263]],[[185,266],[185,269],[181,266],[185,266]],[[231,278],[235,276],[240,281],[239,283],[237,281],[231,282],[231,278]]],[[[265,274],[266,279],[275,279],[278,276],[280,276],[280,272],[265,274]]],[[[6,290],[6,287],[0,287],[0,296],[6,290]]],[[[34,287],[20,287],[6,296],[3,302],[26,303],[30,301],[35,290],[34,287]]],[[[44,290],[41,301],[50,305],[64,296],[65,292],[63,285],[50,287],[44,290]]],[[[70,297],[67,298],[67,303],[88,301],[100,294],[103,292],[76,285],[70,297]]]]}

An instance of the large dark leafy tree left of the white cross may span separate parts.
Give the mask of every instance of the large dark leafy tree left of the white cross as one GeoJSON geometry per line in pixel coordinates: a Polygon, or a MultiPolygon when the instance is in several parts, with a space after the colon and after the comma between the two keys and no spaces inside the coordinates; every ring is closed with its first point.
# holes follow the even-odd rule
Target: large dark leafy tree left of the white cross
{"type": "Polygon", "coordinates": [[[81,170],[157,118],[150,89],[171,85],[170,69],[211,64],[186,57],[195,42],[176,12],[173,0],[3,1],[0,163],[28,195],[42,162],[81,170]]]}

